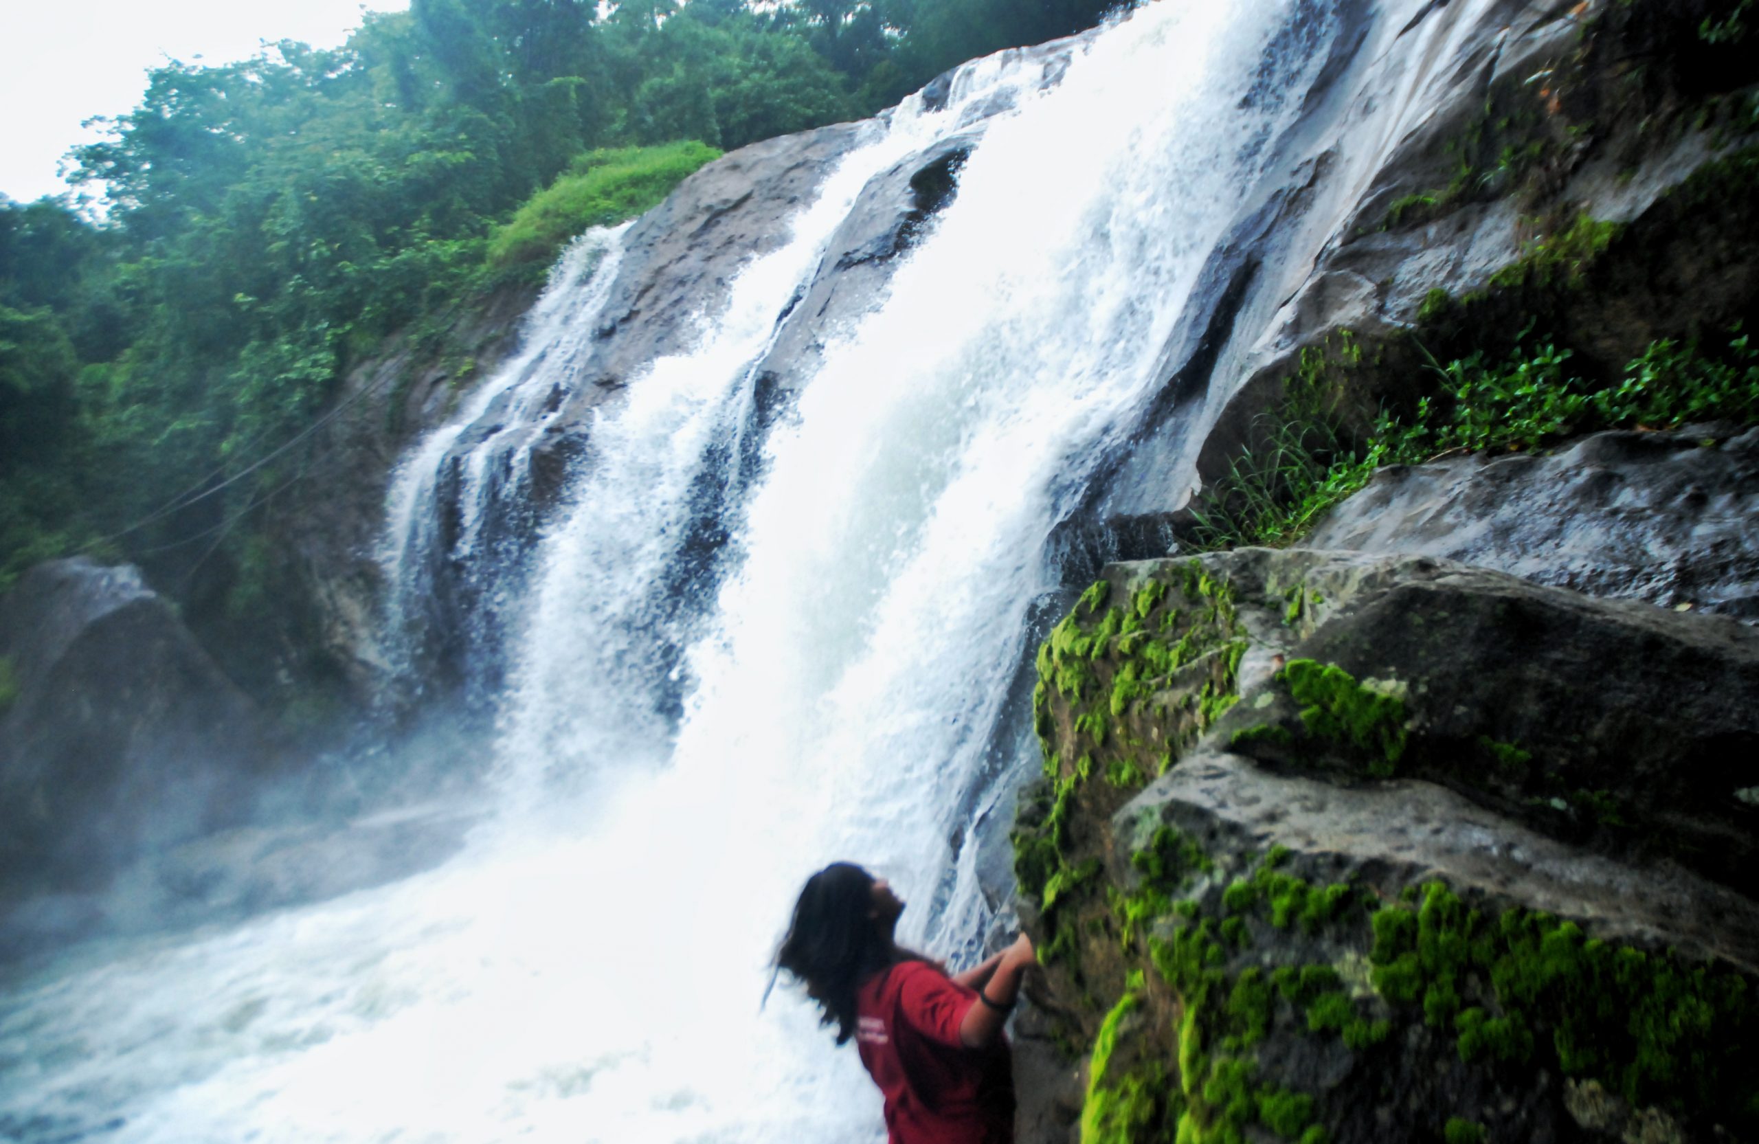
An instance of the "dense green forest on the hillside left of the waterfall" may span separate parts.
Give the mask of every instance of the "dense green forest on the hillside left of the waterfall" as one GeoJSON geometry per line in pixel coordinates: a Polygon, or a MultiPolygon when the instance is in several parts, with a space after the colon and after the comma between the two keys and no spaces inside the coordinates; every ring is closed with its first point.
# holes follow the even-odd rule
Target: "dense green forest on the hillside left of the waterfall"
{"type": "Polygon", "coordinates": [[[83,202],[0,197],[0,591],[91,551],[227,567],[236,605],[301,442],[389,334],[723,150],[1115,4],[413,0],[334,51],[157,69],[70,153],[83,202]]]}

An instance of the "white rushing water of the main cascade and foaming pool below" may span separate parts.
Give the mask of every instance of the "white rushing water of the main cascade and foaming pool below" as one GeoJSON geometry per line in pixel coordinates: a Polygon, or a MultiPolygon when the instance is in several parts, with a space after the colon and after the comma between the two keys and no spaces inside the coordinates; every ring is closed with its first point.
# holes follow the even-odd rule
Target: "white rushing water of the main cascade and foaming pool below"
{"type": "MultiPolygon", "coordinates": [[[[536,553],[494,827],[390,887],[16,982],[0,1135],[878,1139],[853,1054],[795,996],[756,1008],[777,931],[813,868],[855,857],[916,901],[908,940],[955,952],[980,933],[959,808],[985,788],[1025,611],[1055,586],[1047,539],[1164,382],[1156,356],[1328,33],[1296,0],[1161,0],[1055,90],[992,60],[946,111],[876,127],[697,347],[593,424],[536,553]],[[980,88],[1018,88],[1015,109],[767,442],[718,598],[656,632],[688,489],[776,315],[867,178],[952,132],[980,88]],[[675,723],[654,699],[670,672],[675,723]]],[[[521,378],[542,387],[533,363],[566,357],[589,296],[533,324],[528,364],[459,426],[521,378]]],[[[412,458],[394,505],[420,503],[420,456],[456,440],[412,458]]],[[[422,544],[415,516],[399,535],[422,544]]]]}

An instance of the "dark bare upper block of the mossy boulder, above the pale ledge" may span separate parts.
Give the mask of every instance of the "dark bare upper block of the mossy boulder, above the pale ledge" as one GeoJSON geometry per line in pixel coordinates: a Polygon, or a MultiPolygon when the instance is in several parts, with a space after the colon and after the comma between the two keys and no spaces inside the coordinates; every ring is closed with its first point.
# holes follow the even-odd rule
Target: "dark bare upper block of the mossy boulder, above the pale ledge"
{"type": "MultiPolygon", "coordinates": [[[[1397,697],[1397,752],[1309,734],[1242,678],[1235,750],[1354,781],[1421,774],[1560,840],[1664,857],[1759,898],[1759,632],[1428,558],[1240,549],[1214,567],[1277,620],[1265,646],[1397,697]],[[1298,618],[1289,623],[1291,609],[1298,618]],[[1395,757],[1397,755],[1397,757],[1395,757]]],[[[1249,620],[1251,625],[1251,620],[1249,620]]]]}

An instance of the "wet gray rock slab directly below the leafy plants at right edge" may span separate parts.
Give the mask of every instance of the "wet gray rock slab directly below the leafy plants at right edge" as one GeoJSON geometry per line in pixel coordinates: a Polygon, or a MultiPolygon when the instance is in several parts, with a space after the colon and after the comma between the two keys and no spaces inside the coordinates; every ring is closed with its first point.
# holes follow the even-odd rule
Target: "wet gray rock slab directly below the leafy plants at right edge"
{"type": "Polygon", "coordinates": [[[1754,519],[1759,431],[1599,433],[1555,456],[1381,470],[1307,542],[1759,620],[1754,519]]]}

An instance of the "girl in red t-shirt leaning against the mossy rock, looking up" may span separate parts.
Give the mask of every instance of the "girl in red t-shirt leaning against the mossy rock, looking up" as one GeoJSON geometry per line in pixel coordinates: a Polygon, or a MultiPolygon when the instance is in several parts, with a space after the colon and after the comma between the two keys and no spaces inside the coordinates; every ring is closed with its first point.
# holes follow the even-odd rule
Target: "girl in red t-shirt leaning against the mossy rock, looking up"
{"type": "Polygon", "coordinates": [[[806,982],[885,1095],[890,1144],[1011,1144],[1013,1061],[1001,1026],[1033,964],[1013,945],[957,977],[892,940],[904,903],[883,878],[834,862],[793,906],[776,966],[806,982]]]}

